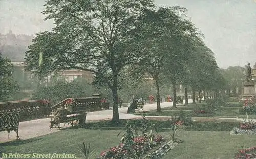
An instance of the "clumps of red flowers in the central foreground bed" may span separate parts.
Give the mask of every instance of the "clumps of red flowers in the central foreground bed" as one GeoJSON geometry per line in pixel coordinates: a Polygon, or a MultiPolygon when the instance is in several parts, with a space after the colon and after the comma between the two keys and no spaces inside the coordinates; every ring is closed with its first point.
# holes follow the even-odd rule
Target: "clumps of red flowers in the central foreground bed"
{"type": "MultiPolygon", "coordinates": [[[[157,147],[161,143],[164,142],[164,139],[161,135],[157,135],[153,141],[150,141],[148,138],[144,136],[140,136],[133,139],[134,144],[132,145],[132,149],[136,150],[137,152],[148,151],[154,147],[157,147]]],[[[125,156],[129,156],[129,149],[125,147],[125,144],[119,144],[116,147],[112,147],[107,151],[103,151],[100,153],[100,159],[118,159],[125,156]]]]}

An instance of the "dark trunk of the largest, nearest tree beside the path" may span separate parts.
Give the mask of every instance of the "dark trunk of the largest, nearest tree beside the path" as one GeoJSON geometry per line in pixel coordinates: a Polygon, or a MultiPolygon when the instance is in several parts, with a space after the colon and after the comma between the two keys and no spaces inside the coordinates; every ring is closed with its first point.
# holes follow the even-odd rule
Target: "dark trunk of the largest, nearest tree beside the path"
{"type": "MultiPolygon", "coordinates": [[[[114,73],[113,73],[114,74],[114,73]]],[[[113,93],[113,117],[112,117],[112,122],[118,123],[119,122],[119,112],[118,112],[118,96],[117,96],[117,75],[114,74],[113,77],[113,87],[112,93],[113,93]]]]}

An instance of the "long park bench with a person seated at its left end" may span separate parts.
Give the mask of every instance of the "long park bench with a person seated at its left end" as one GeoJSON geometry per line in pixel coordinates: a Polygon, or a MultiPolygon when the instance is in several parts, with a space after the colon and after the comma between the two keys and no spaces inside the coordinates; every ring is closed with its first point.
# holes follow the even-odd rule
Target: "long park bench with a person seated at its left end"
{"type": "Polygon", "coordinates": [[[69,115],[66,116],[62,116],[60,118],[55,118],[51,117],[51,125],[50,125],[50,129],[52,127],[58,127],[60,129],[60,123],[64,123],[65,124],[71,124],[73,126],[74,121],[78,121],[78,124],[84,124],[86,123],[86,110],[80,110],[80,111],[74,111],[72,113],[69,113],[69,115]]]}

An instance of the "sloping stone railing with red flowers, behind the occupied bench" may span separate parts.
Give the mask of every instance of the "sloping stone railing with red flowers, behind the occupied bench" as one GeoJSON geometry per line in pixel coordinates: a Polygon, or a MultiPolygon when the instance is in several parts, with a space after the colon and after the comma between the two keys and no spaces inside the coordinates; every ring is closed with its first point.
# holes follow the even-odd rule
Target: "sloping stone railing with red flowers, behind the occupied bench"
{"type": "Polygon", "coordinates": [[[103,107],[99,97],[84,97],[84,98],[67,98],[51,107],[51,112],[54,113],[61,106],[67,107],[68,111],[75,112],[79,110],[98,111],[103,107]]]}

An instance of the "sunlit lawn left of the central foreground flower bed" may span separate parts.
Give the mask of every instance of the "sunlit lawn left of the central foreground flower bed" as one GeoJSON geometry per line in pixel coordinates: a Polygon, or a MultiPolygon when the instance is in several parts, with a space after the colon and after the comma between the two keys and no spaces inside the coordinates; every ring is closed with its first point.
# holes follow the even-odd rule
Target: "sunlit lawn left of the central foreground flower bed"
{"type": "Polygon", "coordinates": [[[101,151],[117,146],[120,138],[117,137],[119,130],[92,130],[92,129],[69,129],[45,135],[30,140],[16,141],[0,144],[4,153],[68,153],[80,157],[78,151],[82,140],[91,143],[91,149],[95,149],[95,157],[101,151]]]}

